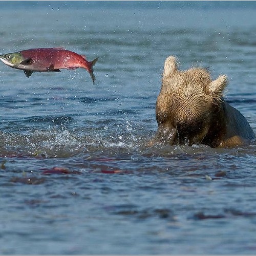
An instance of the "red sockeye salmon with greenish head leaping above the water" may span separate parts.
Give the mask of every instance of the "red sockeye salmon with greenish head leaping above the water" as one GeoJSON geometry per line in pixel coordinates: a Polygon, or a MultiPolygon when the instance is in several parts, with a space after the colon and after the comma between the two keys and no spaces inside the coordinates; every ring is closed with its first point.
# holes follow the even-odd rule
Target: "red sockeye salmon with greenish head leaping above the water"
{"type": "Polygon", "coordinates": [[[94,83],[93,66],[98,58],[88,61],[85,55],[64,48],[37,48],[3,54],[0,55],[0,60],[11,68],[24,70],[27,77],[30,77],[34,71],[60,72],[60,69],[82,68],[89,72],[94,83]]]}

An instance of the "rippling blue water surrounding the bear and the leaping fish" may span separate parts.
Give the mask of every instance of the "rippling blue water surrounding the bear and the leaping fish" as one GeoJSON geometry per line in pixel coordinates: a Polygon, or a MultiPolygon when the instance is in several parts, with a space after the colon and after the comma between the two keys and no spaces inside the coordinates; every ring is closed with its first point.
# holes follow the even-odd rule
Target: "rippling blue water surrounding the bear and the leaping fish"
{"type": "Polygon", "coordinates": [[[146,146],[169,55],[227,74],[256,131],[254,2],[0,5],[1,53],[99,57],[94,86],[0,63],[1,254],[255,254],[254,143],[146,146]]]}

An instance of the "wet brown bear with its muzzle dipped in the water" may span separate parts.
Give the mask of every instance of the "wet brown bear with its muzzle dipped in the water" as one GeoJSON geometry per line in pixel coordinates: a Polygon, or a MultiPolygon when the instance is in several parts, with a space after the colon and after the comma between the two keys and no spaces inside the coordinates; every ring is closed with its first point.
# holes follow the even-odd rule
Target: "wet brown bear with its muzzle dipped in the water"
{"type": "Polygon", "coordinates": [[[232,147],[254,139],[245,117],[223,99],[226,85],[225,75],[211,80],[205,68],[180,71],[176,57],[169,56],[156,102],[158,131],[151,145],[232,147]]]}

